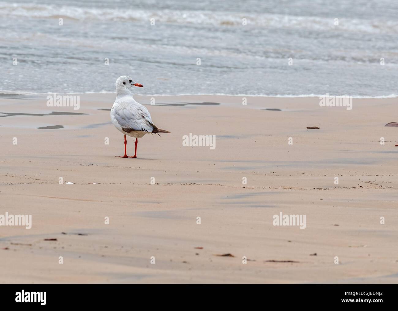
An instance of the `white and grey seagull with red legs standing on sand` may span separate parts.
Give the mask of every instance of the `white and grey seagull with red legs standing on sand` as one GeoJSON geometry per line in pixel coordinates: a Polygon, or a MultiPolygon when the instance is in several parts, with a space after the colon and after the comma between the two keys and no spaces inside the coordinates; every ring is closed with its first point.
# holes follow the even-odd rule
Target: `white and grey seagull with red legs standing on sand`
{"type": "Polygon", "coordinates": [[[144,87],[142,84],[135,83],[135,81],[127,75],[122,75],[116,80],[116,100],[111,109],[111,121],[125,136],[125,155],[116,156],[118,158],[137,158],[138,138],[141,138],[145,134],[170,133],[169,131],[156,127],[152,123],[148,109],[139,102],[136,102],[133,98],[133,93],[130,91],[130,88],[133,86],[144,87]],[[135,137],[134,156],[127,156],[126,135],[135,137]]]}

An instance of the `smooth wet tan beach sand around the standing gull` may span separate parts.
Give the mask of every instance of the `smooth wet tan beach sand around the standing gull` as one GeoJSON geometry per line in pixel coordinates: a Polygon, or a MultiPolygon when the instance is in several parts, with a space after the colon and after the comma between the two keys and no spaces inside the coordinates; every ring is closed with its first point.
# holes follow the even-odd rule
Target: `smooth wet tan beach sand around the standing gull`
{"type": "Polygon", "coordinates": [[[84,113],[0,114],[0,214],[33,223],[0,226],[0,282],[398,281],[398,128],[384,127],[398,122],[398,99],[346,110],[318,98],[136,97],[171,131],[139,139],[137,159],[114,157],[123,135],[103,110],[114,99],[81,95],[80,110],[0,99],[2,113],[84,113]],[[183,147],[189,133],[216,135],[216,148],[183,147]],[[306,228],[273,226],[280,212],[305,214],[306,228]]]}

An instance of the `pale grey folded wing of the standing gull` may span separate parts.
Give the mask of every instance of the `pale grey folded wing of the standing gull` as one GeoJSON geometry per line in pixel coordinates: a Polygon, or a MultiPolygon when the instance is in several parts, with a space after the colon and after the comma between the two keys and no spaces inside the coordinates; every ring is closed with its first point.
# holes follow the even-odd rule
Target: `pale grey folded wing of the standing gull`
{"type": "Polygon", "coordinates": [[[121,103],[114,113],[123,131],[143,131],[151,133],[154,129],[148,109],[141,104],[121,103]]]}

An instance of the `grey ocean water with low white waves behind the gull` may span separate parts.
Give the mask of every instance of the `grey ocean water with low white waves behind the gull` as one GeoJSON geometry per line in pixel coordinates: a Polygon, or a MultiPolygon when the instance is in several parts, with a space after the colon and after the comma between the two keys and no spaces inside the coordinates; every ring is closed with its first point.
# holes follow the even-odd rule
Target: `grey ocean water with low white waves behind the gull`
{"type": "Polygon", "coordinates": [[[398,94],[396,0],[13,0],[0,33],[0,93],[398,94]]]}

